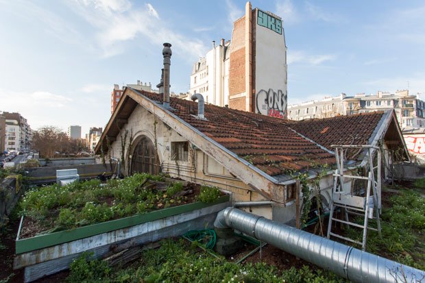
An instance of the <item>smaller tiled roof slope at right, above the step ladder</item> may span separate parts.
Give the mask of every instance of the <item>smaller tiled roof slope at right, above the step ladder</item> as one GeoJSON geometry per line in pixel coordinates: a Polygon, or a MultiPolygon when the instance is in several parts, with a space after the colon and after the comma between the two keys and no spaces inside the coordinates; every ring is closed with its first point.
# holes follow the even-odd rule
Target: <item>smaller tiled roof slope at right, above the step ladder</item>
{"type": "Polygon", "coordinates": [[[369,112],[326,119],[291,121],[289,127],[315,143],[330,145],[367,145],[384,112],[369,112]]]}

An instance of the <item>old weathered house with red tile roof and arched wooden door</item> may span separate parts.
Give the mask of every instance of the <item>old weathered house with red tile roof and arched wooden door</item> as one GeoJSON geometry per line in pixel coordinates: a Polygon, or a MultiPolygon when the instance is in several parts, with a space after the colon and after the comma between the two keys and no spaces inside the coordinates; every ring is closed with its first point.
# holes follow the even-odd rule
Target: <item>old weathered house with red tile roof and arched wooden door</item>
{"type": "MultiPolygon", "coordinates": [[[[232,201],[273,201],[271,207],[249,210],[281,222],[295,218],[295,175],[315,177],[317,165],[335,164],[332,143],[385,145],[406,152],[393,112],[305,125],[213,105],[205,106],[202,119],[197,103],[173,97],[170,106],[162,106],[160,95],[125,88],[95,150],[100,153],[102,145],[110,150],[127,174],[168,173],[218,186],[232,193],[232,201]]],[[[353,160],[363,157],[357,154],[353,160]]],[[[332,182],[332,171],[319,180],[324,205],[332,182]]]]}

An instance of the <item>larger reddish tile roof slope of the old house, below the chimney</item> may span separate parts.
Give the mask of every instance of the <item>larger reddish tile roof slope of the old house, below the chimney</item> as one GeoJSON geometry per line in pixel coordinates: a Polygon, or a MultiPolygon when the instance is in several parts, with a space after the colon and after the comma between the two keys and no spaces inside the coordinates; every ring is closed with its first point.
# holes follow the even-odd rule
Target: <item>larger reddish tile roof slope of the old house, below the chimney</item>
{"type": "MultiPolygon", "coordinates": [[[[162,101],[155,93],[136,91],[162,101]]],[[[268,175],[335,163],[332,154],[293,132],[282,119],[206,104],[207,121],[203,121],[191,116],[197,115],[197,103],[193,101],[171,97],[170,105],[173,114],[268,175]]]]}

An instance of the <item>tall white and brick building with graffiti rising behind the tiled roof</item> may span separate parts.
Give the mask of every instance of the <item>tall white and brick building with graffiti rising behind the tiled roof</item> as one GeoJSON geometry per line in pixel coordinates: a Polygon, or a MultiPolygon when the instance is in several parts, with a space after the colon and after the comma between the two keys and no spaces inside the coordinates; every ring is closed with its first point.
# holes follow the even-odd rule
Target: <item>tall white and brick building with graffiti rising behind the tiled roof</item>
{"type": "MultiPolygon", "coordinates": [[[[287,116],[287,46],[280,16],[245,5],[232,39],[193,64],[189,92],[207,103],[287,116]]],[[[190,96],[187,97],[190,99],[190,96]]]]}

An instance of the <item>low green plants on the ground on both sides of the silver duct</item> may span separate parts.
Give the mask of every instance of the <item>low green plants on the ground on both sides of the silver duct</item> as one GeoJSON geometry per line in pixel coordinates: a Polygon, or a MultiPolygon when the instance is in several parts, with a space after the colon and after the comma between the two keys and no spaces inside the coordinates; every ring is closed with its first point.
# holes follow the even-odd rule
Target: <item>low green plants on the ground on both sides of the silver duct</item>
{"type": "MultiPolygon", "coordinates": [[[[359,219],[360,221],[360,219],[359,219]]],[[[376,225],[371,222],[372,227],[376,225]]],[[[415,190],[398,188],[383,193],[383,238],[369,232],[367,251],[425,270],[425,199],[415,190]]],[[[376,226],[375,226],[376,227],[376,226]]],[[[345,233],[360,240],[358,230],[345,233]]],[[[345,282],[343,278],[313,267],[282,269],[265,262],[236,264],[211,256],[199,243],[167,239],[159,249],[143,251],[140,259],[125,267],[111,267],[88,254],[71,265],[68,282],[345,282]]],[[[284,254],[282,252],[282,254],[284,254]]],[[[282,255],[276,254],[280,257],[282,255]]]]}

